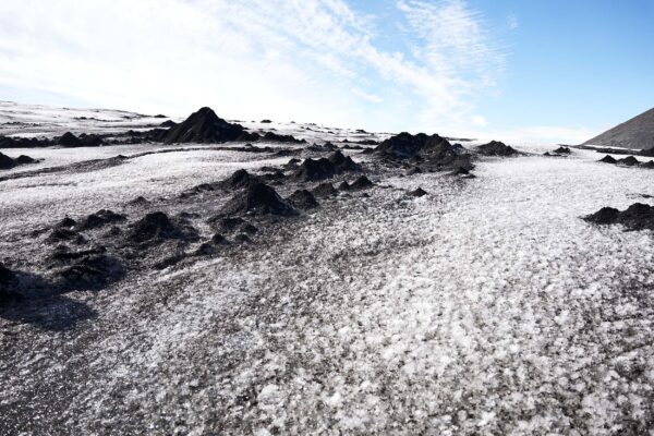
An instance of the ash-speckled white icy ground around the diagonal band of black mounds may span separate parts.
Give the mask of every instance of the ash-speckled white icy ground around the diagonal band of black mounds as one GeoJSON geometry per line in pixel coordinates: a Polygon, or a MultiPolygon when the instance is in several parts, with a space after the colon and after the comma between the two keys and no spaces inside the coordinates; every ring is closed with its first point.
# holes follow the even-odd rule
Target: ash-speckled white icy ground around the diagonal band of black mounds
{"type": "MultiPolygon", "coordinates": [[[[190,148],[0,182],[5,265],[66,215],[136,219],[157,209],[138,195],[173,207],[289,160],[190,148]]],[[[474,179],[371,177],[250,243],[0,312],[0,434],[653,431],[653,235],[581,217],[651,203],[654,171],[535,154],[552,148],[482,158],[474,179]]]]}

